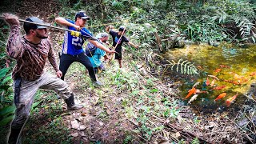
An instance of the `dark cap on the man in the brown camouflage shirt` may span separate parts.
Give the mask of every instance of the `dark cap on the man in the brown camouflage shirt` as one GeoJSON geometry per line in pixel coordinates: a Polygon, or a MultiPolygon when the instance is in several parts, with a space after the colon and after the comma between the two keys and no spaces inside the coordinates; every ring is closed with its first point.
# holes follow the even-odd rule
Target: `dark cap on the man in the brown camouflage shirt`
{"type": "Polygon", "coordinates": [[[39,24],[45,24],[42,22],[41,19],[37,18],[37,17],[31,17],[31,18],[26,18],[26,21],[28,22],[24,22],[24,30],[27,32],[29,32],[30,30],[36,30],[36,29],[45,29],[47,28],[47,26],[39,26],[39,25],[36,25],[36,24],[33,24],[33,23],[29,23],[29,22],[36,22],[36,23],[39,23],[39,24]]]}

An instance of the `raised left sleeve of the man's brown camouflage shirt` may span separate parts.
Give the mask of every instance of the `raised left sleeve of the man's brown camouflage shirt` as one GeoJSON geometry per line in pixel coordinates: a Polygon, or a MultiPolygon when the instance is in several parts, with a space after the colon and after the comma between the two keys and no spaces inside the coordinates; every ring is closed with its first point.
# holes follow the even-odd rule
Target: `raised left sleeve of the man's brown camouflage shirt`
{"type": "Polygon", "coordinates": [[[24,53],[20,29],[21,27],[18,25],[10,26],[10,36],[7,41],[6,51],[14,59],[22,58],[22,54],[24,53]]]}

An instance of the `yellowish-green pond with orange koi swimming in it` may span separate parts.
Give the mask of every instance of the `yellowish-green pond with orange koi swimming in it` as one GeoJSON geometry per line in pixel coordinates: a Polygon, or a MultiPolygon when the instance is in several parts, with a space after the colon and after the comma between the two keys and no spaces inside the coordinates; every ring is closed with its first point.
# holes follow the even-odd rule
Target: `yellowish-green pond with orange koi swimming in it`
{"type": "MultiPolygon", "coordinates": [[[[168,51],[164,54],[164,58],[169,61],[167,64],[173,63],[166,66],[169,69],[166,70],[165,75],[174,79],[175,82],[182,83],[181,98],[186,98],[188,91],[199,82],[194,86],[198,97],[190,103],[188,102],[195,93],[184,99],[185,105],[190,105],[198,111],[210,112],[240,106],[248,98],[246,93],[250,90],[251,83],[256,82],[255,45],[246,48],[229,44],[216,47],[185,46],[182,49],[168,51]],[[192,69],[197,71],[193,72],[192,69]],[[215,101],[220,94],[225,95],[223,93],[226,93],[226,96],[215,101]],[[227,99],[236,94],[238,97],[230,106],[227,106],[227,99]]],[[[254,98],[254,95],[250,94],[249,97],[254,98]]]]}

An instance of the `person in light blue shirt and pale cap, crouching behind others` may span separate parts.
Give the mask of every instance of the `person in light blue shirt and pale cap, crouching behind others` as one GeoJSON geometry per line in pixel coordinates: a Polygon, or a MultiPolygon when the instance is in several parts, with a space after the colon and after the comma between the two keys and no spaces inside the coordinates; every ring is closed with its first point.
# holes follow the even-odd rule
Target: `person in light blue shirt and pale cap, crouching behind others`
{"type": "MultiPolygon", "coordinates": [[[[99,42],[106,43],[109,39],[109,35],[106,33],[97,34],[96,38],[99,42]]],[[[94,44],[88,42],[86,45],[86,55],[90,59],[91,64],[94,67],[94,72],[97,73],[99,70],[105,70],[104,65],[101,62],[101,58],[109,59],[106,55],[104,50],[99,49],[98,47],[94,46],[94,44]]]]}

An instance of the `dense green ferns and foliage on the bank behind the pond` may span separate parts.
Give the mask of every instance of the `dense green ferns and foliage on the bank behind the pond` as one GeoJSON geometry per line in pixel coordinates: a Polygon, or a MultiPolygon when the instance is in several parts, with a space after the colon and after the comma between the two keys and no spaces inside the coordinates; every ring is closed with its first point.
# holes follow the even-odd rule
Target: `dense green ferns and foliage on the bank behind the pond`
{"type": "MultiPolygon", "coordinates": [[[[100,23],[127,26],[134,38],[145,45],[155,44],[154,32],[160,39],[172,38],[174,42],[255,42],[256,38],[254,0],[99,0],[94,5],[82,0],[62,2],[64,6],[73,6],[71,10],[85,10],[94,18],[91,25],[97,25],[95,19],[101,19],[100,23]]],[[[62,14],[70,13],[65,10],[62,14]]],[[[165,42],[162,45],[168,46],[165,42]]]]}

